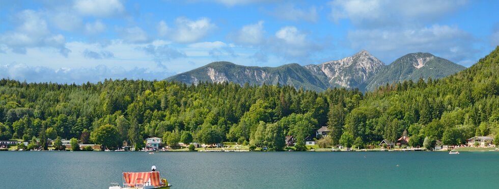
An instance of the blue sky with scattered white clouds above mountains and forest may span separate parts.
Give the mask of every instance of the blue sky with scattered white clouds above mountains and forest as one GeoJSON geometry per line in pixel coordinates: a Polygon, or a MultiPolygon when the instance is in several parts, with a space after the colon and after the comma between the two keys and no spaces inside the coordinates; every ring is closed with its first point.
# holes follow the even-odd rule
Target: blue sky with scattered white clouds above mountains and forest
{"type": "Polygon", "coordinates": [[[0,0],[0,77],[164,79],[215,61],[320,64],[365,49],[469,67],[499,45],[499,1],[0,0]]]}

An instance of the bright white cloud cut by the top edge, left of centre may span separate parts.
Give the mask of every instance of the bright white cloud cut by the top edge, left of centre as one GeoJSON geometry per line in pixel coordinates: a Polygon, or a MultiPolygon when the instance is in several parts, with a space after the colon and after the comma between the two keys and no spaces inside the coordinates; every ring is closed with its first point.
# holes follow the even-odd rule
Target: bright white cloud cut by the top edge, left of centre
{"type": "Polygon", "coordinates": [[[109,17],[121,14],[125,7],[118,0],[79,0],[73,8],[81,15],[109,17]]]}

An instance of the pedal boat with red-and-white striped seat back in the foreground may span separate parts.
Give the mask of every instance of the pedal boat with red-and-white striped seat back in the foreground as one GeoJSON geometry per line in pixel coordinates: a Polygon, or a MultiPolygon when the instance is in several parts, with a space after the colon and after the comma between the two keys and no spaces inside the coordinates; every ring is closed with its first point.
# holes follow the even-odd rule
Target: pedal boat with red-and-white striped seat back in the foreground
{"type": "Polygon", "coordinates": [[[161,178],[156,166],[151,168],[151,172],[125,172],[123,173],[123,187],[118,183],[111,183],[109,189],[153,189],[170,188],[172,184],[167,179],[161,178]]]}

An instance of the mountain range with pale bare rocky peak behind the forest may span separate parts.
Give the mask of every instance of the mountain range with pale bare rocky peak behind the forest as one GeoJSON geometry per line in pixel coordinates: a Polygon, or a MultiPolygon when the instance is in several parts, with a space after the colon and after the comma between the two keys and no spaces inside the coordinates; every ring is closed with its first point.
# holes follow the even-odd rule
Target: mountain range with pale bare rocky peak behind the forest
{"type": "Polygon", "coordinates": [[[241,66],[230,62],[213,62],[206,66],[167,78],[187,84],[198,82],[234,82],[240,85],[282,84],[296,88],[323,91],[327,88],[358,88],[372,91],[386,83],[403,80],[441,78],[464,70],[465,67],[431,53],[409,53],[390,65],[361,50],[341,60],[300,66],[241,66]]]}

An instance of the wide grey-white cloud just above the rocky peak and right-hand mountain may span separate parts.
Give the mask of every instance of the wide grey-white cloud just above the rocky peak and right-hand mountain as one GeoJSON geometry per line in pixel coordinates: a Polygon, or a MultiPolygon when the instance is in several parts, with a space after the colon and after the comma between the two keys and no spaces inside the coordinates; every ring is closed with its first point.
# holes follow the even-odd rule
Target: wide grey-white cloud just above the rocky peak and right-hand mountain
{"type": "Polygon", "coordinates": [[[379,58],[393,59],[411,52],[431,52],[456,62],[474,57],[473,37],[456,26],[432,25],[424,28],[349,31],[352,48],[364,48],[379,58]]]}

